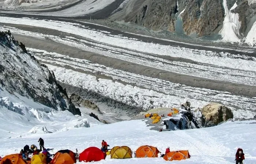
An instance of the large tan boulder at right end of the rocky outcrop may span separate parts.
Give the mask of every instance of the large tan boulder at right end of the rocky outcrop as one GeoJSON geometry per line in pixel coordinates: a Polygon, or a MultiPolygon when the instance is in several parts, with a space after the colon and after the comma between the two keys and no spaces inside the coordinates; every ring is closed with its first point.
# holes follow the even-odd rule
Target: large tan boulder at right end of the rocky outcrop
{"type": "Polygon", "coordinates": [[[211,102],[210,104],[204,106],[201,109],[201,113],[205,117],[204,126],[206,127],[215,126],[223,121],[233,118],[231,109],[215,102],[211,102]]]}

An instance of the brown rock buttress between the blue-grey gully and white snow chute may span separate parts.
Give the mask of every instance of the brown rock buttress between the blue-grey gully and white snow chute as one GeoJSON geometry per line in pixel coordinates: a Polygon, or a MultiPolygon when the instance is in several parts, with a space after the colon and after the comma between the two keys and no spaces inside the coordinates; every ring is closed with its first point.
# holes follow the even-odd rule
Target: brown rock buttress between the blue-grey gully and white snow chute
{"type": "Polygon", "coordinates": [[[218,33],[224,20],[224,9],[221,0],[186,0],[178,1],[183,30],[187,35],[197,36],[218,33]]]}

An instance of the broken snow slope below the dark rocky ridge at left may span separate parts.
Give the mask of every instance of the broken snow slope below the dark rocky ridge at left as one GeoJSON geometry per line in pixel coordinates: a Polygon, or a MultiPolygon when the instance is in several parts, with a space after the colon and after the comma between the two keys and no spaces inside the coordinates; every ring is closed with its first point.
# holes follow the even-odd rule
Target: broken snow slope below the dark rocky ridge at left
{"type": "Polygon", "coordinates": [[[89,115],[56,111],[21,95],[0,92],[0,138],[20,138],[102,125],[89,115]]]}

